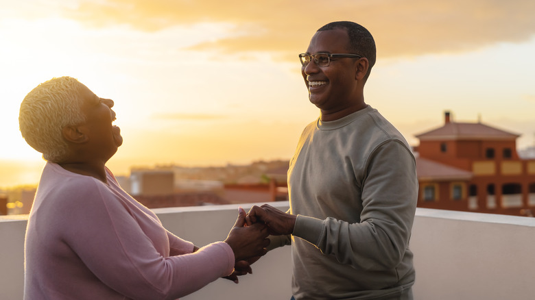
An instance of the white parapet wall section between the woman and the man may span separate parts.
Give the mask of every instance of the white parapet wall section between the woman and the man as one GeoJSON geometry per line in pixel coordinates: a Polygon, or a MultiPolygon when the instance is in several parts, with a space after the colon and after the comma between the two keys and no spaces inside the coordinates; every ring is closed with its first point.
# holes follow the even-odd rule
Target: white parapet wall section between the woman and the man
{"type": "MultiPolygon", "coordinates": [[[[263,203],[257,203],[261,205],[263,203]]],[[[288,202],[270,203],[279,210],[288,210],[288,202]]],[[[210,205],[190,208],[158,208],[154,210],[164,227],[202,247],[224,240],[233,227],[241,206],[246,212],[253,204],[210,205]]],[[[182,300],[206,299],[290,299],[292,297],[292,249],[274,249],[252,265],[252,274],[239,277],[239,284],[217,279],[182,300]]]]}

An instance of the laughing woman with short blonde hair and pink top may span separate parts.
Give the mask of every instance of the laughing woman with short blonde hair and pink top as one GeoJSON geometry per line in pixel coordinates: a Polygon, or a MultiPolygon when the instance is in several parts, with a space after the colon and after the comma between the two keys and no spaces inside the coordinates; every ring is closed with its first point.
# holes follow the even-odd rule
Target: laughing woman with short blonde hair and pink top
{"type": "Polygon", "coordinates": [[[244,260],[265,254],[265,226],[243,227],[240,210],[224,242],[200,249],[167,232],[105,166],[123,142],[112,106],[71,77],[21,103],[21,133],[47,160],[27,225],[24,299],[176,299],[219,277],[237,282],[250,271],[244,260]]]}

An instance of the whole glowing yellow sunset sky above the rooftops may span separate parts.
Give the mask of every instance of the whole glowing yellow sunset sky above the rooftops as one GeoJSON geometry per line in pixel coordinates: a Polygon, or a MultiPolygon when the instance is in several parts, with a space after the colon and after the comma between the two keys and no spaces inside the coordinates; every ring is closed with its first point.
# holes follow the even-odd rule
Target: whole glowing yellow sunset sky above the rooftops
{"type": "Polygon", "coordinates": [[[289,159],[318,117],[298,53],[331,21],[377,43],[365,88],[407,138],[453,121],[535,145],[533,0],[0,0],[0,187],[44,161],[19,132],[27,92],[69,75],[115,101],[123,146],[108,166],[289,159]]]}

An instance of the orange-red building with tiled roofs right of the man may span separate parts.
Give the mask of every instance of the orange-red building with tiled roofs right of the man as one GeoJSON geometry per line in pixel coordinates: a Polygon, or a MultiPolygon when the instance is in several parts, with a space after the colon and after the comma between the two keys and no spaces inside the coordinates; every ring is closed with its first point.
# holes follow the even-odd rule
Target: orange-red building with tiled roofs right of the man
{"type": "Polygon", "coordinates": [[[416,135],[418,207],[532,216],[535,160],[519,158],[518,137],[445,112],[442,127],[416,135]]]}

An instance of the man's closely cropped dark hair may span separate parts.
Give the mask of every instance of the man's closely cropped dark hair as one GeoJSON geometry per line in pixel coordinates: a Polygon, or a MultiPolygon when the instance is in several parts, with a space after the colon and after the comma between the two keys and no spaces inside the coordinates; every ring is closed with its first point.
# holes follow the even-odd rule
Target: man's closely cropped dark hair
{"type": "Polygon", "coordinates": [[[348,50],[350,53],[361,55],[363,58],[368,58],[368,73],[366,73],[364,80],[368,79],[368,76],[370,76],[370,72],[372,71],[372,66],[375,64],[377,55],[377,51],[375,49],[375,40],[373,39],[372,34],[370,34],[368,29],[364,28],[362,25],[350,21],[331,22],[323,25],[320,29],[318,29],[318,32],[337,28],[346,29],[349,36],[348,50]]]}

